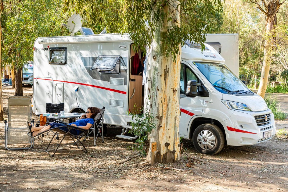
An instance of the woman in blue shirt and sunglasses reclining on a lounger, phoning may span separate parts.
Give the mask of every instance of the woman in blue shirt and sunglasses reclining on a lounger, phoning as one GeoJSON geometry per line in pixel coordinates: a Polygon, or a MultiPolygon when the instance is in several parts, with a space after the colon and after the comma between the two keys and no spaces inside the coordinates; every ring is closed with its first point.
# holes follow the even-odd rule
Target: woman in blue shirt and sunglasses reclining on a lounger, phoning
{"type": "MultiPolygon", "coordinates": [[[[93,124],[94,124],[94,117],[99,113],[100,110],[97,107],[88,107],[86,114],[83,114],[77,121],[73,123],[69,123],[69,125],[73,125],[75,127],[80,127],[82,129],[88,130],[93,124]]],[[[35,127],[31,125],[28,121],[26,122],[26,126],[30,130],[31,136],[38,135],[39,133],[43,131],[47,131],[48,129],[54,128],[54,127],[60,127],[65,126],[65,124],[62,123],[50,123],[49,125],[44,125],[40,127],[35,127]]],[[[68,131],[67,127],[60,127],[59,129],[62,129],[63,131],[68,131]]],[[[82,131],[71,129],[70,133],[73,135],[79,135],[82,131]]]]}

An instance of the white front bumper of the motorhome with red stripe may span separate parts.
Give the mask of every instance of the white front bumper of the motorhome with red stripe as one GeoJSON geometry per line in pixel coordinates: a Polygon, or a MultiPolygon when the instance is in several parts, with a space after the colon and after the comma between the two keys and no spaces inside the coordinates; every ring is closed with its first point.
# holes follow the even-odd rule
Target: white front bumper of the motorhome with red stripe
{"type": "MultiPolygon", "coordinates": [[[[270,109],[262,112],[235,111],[232,116],[223,122],[228,145],[253,145],[272,139],[276,132],[274,115],[270,109]],[[271,114],[270,123],[258,126],[256,115],[271,114]],[[272,131],[269,137],[264,138],[264,133],[272,131]]],[[[270,132],[269,132],[270,133],[270,132]]]]}

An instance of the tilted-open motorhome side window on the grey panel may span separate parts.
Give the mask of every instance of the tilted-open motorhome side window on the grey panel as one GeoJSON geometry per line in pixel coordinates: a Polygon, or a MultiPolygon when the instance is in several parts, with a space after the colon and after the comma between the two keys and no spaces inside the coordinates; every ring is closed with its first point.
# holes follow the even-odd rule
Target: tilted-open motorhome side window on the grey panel
{"type": "Polygon", "coordinates": [[[91,70],[97,70],[104,74],[119,74],[120,73],[120,56],[99,56],[91,70]]]}

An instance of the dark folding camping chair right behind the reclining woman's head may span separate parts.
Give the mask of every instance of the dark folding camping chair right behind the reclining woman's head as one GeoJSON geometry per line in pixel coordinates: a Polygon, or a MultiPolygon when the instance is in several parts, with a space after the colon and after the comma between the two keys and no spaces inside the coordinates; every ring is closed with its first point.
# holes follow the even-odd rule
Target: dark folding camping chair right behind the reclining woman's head
{"type": "Polygon", "coordinates": [[[90,127],[90,132],[86,135],[84,138],[84,141],[89,137],[89,135],[93,132],[93,137],[94,137],[94,146],[96,146],[96,139],[98,135],[100,134],[102,138],[102,143],[104,143],[104,135],[103,135],[103,122],[104,122],[104,112],[105,112],[105,107],[103,106],[102,109],[100,109],[100,112],[94,117],[94,124],[92,127],[90,127]],[[95,137],[95,128],[97,128],[97,135],[95,137]],[[101,129],[101,130],[100,130],[101,129]]]}

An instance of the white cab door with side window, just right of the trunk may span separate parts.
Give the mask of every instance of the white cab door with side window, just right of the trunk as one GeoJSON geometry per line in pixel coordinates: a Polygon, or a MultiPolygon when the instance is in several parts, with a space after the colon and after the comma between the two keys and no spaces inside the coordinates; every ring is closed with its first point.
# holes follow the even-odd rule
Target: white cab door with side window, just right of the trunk
{"type": "Polygon", "coordinates": [[[194,71],[192,71],[188,63],[182,61],[180,70],[180,135],[188,135],[188,126],[191,118],[196,115],[202,115],[203,111],[204,97],[198,95],[192,98],[185,95],[187,82],[189,80],[196,80],[198,83],[200,82],[199,78],[194,73],[194,71]]]}

